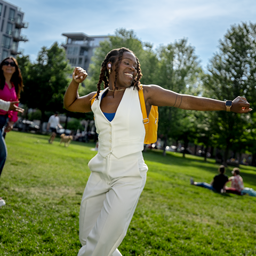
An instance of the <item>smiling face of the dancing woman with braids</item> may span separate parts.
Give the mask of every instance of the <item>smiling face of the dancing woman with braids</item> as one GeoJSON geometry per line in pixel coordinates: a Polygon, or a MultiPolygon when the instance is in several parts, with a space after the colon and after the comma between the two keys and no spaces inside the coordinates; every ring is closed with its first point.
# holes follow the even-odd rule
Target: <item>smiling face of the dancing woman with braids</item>
{"type": "Polygon", "coordinates": [[[123,57],[119,65],[118,76],[116,81],[116,86],[119,89],[122,87],[127,88],[132,85],[137,75],[137,65],[138,63],[133,53],[131,52],[123,53],[123,57]]]}

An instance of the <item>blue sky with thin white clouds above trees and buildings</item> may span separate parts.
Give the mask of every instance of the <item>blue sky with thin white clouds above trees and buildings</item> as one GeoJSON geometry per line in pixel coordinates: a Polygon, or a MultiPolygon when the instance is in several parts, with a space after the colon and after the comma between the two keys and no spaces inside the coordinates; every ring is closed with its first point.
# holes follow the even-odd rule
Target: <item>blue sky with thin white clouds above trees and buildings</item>
{"type": "Polygon", "coordinates": [[[219,39],[231,25],[256,23],[255,0],[10,0],[25,13],[29,42],[20,43],[30,60],[42,46],[64,43],[62,33],[113,35],[118,28],[133,29],[142,42],[154,47],[188,38],[205,68],[218,50],[219,39]]]}

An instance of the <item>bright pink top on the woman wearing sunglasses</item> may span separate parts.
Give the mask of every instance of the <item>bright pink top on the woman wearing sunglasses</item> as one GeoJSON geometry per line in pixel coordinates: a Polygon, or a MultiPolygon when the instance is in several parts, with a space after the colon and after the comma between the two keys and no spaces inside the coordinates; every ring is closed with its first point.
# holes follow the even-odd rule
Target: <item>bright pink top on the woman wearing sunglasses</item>
{"type": "MultiPolygon", "coordinates": [[[[15,87],[12,84],[12,88],[5,83],[3,90],[0,89],[0,99],[5,101],[18,101],[17,94],[15,92],[15,87]]],[[[16,122],[18,120],[18,112],[16,111],[4,111],[0,109],[0,115],[7,115],[9,117],[9,121],[16,122]]]]}

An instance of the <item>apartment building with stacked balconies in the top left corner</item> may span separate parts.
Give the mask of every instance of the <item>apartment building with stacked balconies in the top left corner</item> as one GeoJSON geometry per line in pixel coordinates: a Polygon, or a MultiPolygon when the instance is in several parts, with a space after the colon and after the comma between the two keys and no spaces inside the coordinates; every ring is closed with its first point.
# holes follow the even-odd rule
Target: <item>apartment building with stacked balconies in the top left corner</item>
{"type": "Polygon", "coordinates": [[[20,7],[0,0],[0,60],[8,56],[15,57],[22,54],[19,42],[28,41],[21,35],[21,29],[28,27],[28,22],[23,21],[24,13],[20,7]]]}

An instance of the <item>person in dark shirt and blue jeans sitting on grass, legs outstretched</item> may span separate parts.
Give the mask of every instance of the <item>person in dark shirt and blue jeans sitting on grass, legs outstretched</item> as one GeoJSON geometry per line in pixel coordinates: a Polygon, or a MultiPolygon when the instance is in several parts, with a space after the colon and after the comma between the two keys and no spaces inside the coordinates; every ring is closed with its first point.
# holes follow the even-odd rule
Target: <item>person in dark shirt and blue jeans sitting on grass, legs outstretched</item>
{"type": "Polygon", "coordinates": [[[215,175],[215,177],[213,178],[213,180],[210,184],[206,183],[206,182],[194,182],[194,180],[192,178],[190,178],[190,184],[199,186],[199,187],[208,188],[210,190],[222,193],[225,188],[226,183],[228,182],[228,177],[226,174],[224,174],[226,171],[224,165],[220,165],[218,171],[220,174],[215,175]]]}

